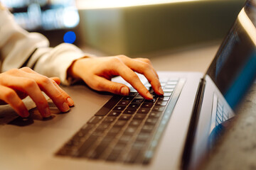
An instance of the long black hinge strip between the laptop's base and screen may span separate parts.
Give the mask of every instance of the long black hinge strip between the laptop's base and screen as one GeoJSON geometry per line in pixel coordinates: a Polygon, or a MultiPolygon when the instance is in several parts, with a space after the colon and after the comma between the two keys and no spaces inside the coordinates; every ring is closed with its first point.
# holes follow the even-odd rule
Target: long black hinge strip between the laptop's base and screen
{"type": "Polygon", "coordinates": [[[181,169],[189,169],[189,163],[191,159],[191,152],[193,147],[193,142],[196,135],[196,127],[198,124],[199,114],[201,111],[201,106],[203,103],[203,94],[206,86],[206,80],[201,79],[198,90],[196,92],[196,100],[193,105],[193,113],[191,115],[191,121],[188,127],[188,134],[186,137],[186,143],[183,150],[182,160],[181,160],[181,169]]]}

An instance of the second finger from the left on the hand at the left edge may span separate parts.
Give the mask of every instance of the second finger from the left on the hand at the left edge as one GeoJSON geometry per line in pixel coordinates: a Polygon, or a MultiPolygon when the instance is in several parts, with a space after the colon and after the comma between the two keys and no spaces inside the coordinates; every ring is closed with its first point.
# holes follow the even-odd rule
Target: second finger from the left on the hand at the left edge
{"type": "Polygon", "coordinates": [[[28,96],[36,103],[38,111],[43,117],[50,116],[50,109],[46,98],[43,96],[41,89],[39,88],[36,81],[24,77],[8,77],[8,81],[3,79],[1,84],[8,86],[11,89],[17,89],[19,91],[26,92],[28,96]]]}

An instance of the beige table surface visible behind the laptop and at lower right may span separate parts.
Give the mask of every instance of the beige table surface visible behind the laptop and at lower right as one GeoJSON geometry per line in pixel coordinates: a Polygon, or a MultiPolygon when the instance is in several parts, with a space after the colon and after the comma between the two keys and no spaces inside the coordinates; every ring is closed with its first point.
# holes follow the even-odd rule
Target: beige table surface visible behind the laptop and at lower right
{"type": "MultiPolygon", "coordinates": [[[[206,72],[220,42],[149,57],[158,71],[206,72]]],[[[84,50],[87,50],[86,48],[84,50]]],[[[100,53],[97,53],[101,55],[100,53]]],[[[256,169],[256,84],[238,109],[238,116],[203,169],[256,169]]]]}

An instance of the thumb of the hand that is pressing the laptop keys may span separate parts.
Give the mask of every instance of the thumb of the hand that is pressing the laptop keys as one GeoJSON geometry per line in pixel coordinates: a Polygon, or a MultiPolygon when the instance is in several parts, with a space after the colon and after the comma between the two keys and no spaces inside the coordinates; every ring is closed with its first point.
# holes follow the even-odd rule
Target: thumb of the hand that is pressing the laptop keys
{"type": "Polygon", "coordinates": [[[97,91],[108,91],[112,94],[118,95],[129,95],[129,87],[124,84],[119,84],[110,80],[107,80],[103,77],[95,77],[93,79],[92,89],[97,91]]]}

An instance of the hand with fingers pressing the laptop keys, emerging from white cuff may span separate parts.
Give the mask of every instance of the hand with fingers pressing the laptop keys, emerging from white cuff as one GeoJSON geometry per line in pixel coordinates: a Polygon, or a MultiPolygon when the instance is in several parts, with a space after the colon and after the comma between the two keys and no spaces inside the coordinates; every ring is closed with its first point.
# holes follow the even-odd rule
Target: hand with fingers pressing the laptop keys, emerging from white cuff
{"type": "Polygon", "coordinates": [[[82,79],[92,89],[109,91],[113,94],[129,95],[129,88],[124,84],[110,81],[114,76],[121,76],[131,84],[141,96],[151,100],[153,97],[139,80],[136,73],[144,74],[155,93],[163,95],[159,77],[148,59],[131,59],[124,55],[115,57],[82,58],[76,60],[69,69],[75,79],[82,79]]]}

